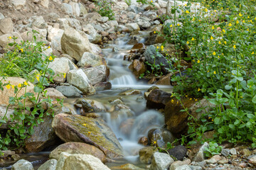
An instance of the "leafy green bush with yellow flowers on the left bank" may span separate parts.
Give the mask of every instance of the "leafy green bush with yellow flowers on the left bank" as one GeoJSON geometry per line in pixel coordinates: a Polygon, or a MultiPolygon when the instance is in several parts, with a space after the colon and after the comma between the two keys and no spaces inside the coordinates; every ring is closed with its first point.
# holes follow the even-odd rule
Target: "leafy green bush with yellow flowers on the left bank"
{"type": "Polygon", "coordinates": [[[53,103],[53,100],[46,96],[46,91],[43,91],[53,80],[54,72],[48,65],[55,57],[43,55],[43,51],[48,47],[36,40],[37,34],[33,30],[31,42],[17,43],[15,37],[9,37],[10,43],[6,47],[8,51],[0,58],[0,90],[14,89],[14,96],[9,98],[9,105],[6,107],[6,113],[8,108],[14,108],[14,113],[10,115],[11,120],[6,118],[6,113],[0,118],[0,126],[8,125],[8,129],[0,131],[0,150],[22,147],[24,140],[33,135],[34,127],[43,122],[43,117],[53,115],[52,108],[56,104],[62,105],[60,100],[53,103]],[[26,81],[14,86],[5,81],[6,77],[22,77],[26,81]],[[27,91],[28,81],[35,84],[35,93],[27,91]],[[20,95],[20,91],[25,92],[20,95]],[[26,101],[32,102],[33,107],[26,107],[26,101]],[[46,110],[42,103],[48,106],[46,110]]]}

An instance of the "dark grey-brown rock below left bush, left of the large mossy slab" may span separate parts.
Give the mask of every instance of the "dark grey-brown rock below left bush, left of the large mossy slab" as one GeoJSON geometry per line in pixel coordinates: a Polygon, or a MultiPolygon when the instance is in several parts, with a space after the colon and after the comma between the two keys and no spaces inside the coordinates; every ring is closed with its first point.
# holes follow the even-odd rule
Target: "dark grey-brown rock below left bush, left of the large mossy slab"
{"type": "Polygon", "coordinates": [[[46,147],[50,147],[55,143],[57,136],[51,127],[52,122],[53,117],[49,115],[43,118],[43,123],[33,128],[33,135],[25,140],[27,152],[41,152],[46,147]]]}

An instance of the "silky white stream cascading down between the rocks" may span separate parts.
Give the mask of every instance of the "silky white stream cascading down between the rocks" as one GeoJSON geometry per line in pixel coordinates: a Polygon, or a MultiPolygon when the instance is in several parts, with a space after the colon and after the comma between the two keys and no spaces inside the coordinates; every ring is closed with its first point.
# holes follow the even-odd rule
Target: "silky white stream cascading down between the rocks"
{"type": "MultiPolygon", "coordinates": [[[[145,39],[143,37],[145,33],[142,32],[140,35],[138,35],[139,42],[144,42],[145,39]]],[[[123,103],[129,106],[132,111],[132,115],[124,113],[117,115],[117,117],[112,116],[111,113],[99,113],[117,136],[117,139],[122,145],[124,154],[124,159],[118,159],[115,160],[115,162],[107,162],[106,165],[111,167],[131,163],[145,168],[145,165],[139,162],[139,149],[144,147],[143,145],[138,144],[139,137],[147,136],[147,132],[152,128],[161,128],[164,125],[164,115],[157,111],[148,110],[146,108],[144,92],[147,91],[152,85],[149,85],[147,82],[142,80],[138,81],[128,68],[131,62],[123,60],[124,55],[129,53],[129,50],[131,50],[133,46],[127,44],[129,40],[129,34],[120,35],[117,40],[114,40],[113,44],[107,44],[106,47],[102,49],[102,52],[107,60],[107,66],[110,68],[109,81],[112,84],[112,89],[106,91],[97,91],[97,94],[87,96],[86,98],[99,101],[104,105],[109,104],[111,100],[122,98],[123,103]],[[142,91],[142,94],[119,96],[121,92],[129,89],[140,90],[142,91]],[[129,132],[124,133],[122,130],[120,130],[120,125],[122,125],[122,123],[128,119],[133,119],[134,125],[131,129],[129,129],[129,132]]],[[[171,86],[159,86],[159,88],[168,92],[172,91],[171,86]]],[[[73,111],[75,111],[73,103],[75,103],[76,99],[77,98],[65,99],[64,105],[73,107],[73,111]]],[[[21,159],[26,159],[32,162],[34,169],[38,169],[43,162],[46,162],[48,159],[48,154],[50,154],[51,150],[52,149],[49,149],[46,152],[38,152],[33,154],[21,154],[20,156],[21,159]]],[[[11,165],[14,163],[14,161],[6,160],[4,167],[6,169],[10,169],[11,165]]],[[[0,167],[1,166],[3,165],[0,164],[0,167]]]]}

